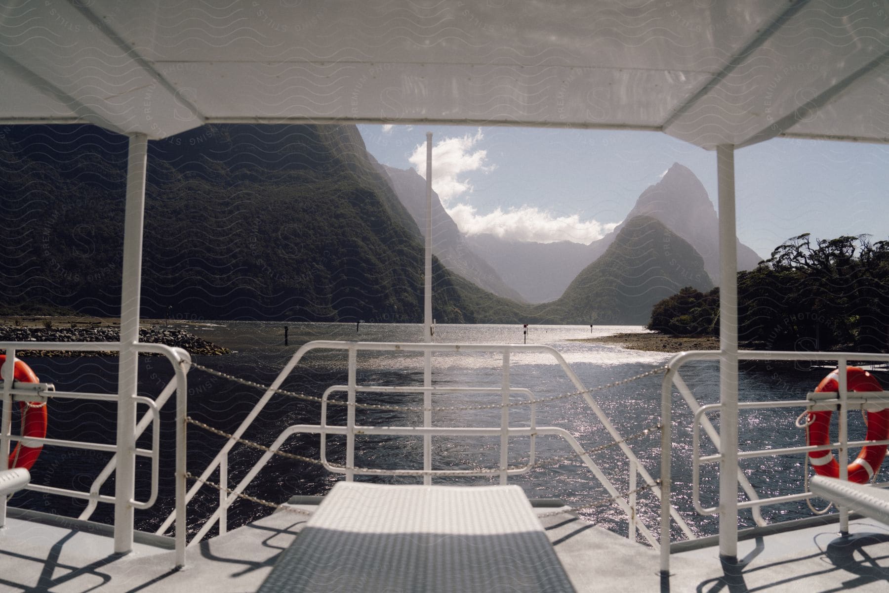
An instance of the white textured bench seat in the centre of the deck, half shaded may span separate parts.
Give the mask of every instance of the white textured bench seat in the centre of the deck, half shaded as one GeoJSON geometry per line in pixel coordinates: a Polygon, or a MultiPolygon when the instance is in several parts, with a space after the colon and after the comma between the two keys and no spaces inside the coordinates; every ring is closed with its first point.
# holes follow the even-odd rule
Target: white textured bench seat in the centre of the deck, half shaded
{"type": "Polygon", "coordinates": [[[573,591],[516,485],[335,485],[260,591],[573,591]]]}

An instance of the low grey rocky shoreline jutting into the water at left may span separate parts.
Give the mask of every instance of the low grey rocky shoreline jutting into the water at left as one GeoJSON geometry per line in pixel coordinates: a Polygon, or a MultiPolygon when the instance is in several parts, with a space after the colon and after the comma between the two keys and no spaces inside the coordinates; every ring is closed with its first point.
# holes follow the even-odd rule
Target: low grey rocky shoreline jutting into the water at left
{"type": "MultiPolygon", "coordinates": [[[[0,325],[0,341],[118,341],[120,328],[111,326],[89,327],[26,327],[0,325]]],[[[193,333],[181,329],[162,329],[160,327],[143,327],[139,330],[139,341],[152,344],[166,344],[188,350],[189,354],[215,356],[230,354],[231,350],[217,346],[193,333]]],[[[71,352],[66,350],[28,350],[16,351],[19,357],[116,357],[116,352],[71,352]]],[[[160,356],[143,353],[141,356],[160,356]]]]}

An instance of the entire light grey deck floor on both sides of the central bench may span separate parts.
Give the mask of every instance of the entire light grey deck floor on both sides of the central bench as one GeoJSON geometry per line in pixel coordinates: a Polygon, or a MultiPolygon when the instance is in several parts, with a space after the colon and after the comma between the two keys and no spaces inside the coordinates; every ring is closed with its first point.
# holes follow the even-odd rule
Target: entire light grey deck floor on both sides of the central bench
{"type": "MultiPolygon", "coordinates": [[[[8,517],[0,591],[256,591],[307,518],[277,511],[188,549],[188,567],[174,571],[169,549],[136,544],[116,556],[108,536],[8,517]]],[[[889,528],[869,519],[851,522],[846,537],[833,524],[741,541],[740,569],[721,565],[712,546],[674,553],[669,581],[661,580],[653,549],[567,513],[541,522],[581,592],[889,589],[889,528]]]]}

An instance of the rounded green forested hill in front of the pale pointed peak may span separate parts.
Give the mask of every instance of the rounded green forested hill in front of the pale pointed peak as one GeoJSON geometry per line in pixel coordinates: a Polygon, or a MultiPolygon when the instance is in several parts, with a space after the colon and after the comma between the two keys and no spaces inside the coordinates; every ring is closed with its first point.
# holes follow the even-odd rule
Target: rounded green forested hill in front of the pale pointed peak
{"type": "Polygon", "coordinates": [[[584,268],[557,301],[534,308],[541,319],[570,324],[648,323],[653,305],[692,285],[713,287],[704,260],[691,244],[660,220],[627,220],[613,243],[584,268]]]}

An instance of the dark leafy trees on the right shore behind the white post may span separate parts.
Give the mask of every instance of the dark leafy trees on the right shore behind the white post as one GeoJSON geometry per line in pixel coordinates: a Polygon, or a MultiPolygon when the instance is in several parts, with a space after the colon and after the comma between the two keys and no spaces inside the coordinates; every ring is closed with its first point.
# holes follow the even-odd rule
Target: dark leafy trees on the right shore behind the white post
{"type": "MultiPolygon", "coordinates": [[[[738,273],[739,341],[754,349],[889,351],[887,289],[889,241],[795,236],[738,273]]],[[[718,287],[686,287],[658,302],[648,328],[718,335],[718,287]]]]}

